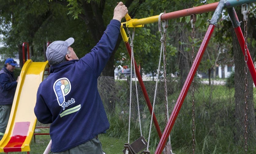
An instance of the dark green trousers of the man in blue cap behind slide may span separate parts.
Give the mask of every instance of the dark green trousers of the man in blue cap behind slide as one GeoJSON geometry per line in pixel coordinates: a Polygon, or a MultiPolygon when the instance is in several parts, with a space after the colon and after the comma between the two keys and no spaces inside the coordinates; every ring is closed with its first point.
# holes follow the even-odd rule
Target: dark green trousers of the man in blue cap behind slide
{"type": "Polygon", "coordinates": [[[0,105],[0,140],[2,139],[8,120],[10,117],[12,105],[0,105]]]}

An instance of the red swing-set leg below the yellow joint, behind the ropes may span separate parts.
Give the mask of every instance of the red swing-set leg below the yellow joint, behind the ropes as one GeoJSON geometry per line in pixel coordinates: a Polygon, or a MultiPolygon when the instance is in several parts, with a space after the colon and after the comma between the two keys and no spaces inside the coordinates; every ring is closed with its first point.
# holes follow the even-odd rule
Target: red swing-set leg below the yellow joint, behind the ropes
{"type": "MultiPolygon", "coordinates": [[[[129,56],[130,56],[130,58],[131,58],[132,52],[131,52],[131,47],[130,47],[129,42],[125,42],[125,46],[126,46],[126,49],[127,49],[128,53],[129,53],[129,56]]],[[[141,77],[141,75],[140,75],[140,71],[139,71],[139,69],[138,69],[138,66],[137,66],[137,63],[136,63],[135,60],[134,60],[134,65],[135,65],[135,73],[136,73],[136,76],[137,76],[138,81],[139,81],[139,83],[140,83],[140,86],[141,86],[141,89],[142,89],[142,93],[143,93],[143,95],[144,95],[144,97],[145,97],[146,103],[147,103],[147,105],[148,105],[148,108],[149,108],[149,111],[150,111],[150,114],[151,114],[151,113],[152,113],[152,110],[153,110],[153,107],[152,107],[152,105],[151,105],[151,103],[150,103],[149,96],[148,96],[148,94],[147,94],[145,85],[144,85],[144,83],[143,83],[143,81],[142,81],[142,77],[141,77]]],[[[161,129],[160,129],[159,125],[158,125],[158,122],[157,122],[157,118],[156,118],[155,113],[153,113],[153,121],[154,121],[155,127],[156,127],[156,129],[157,129],[158,136],[159,136],[159,138],[161,138],[161,137],[162,137],[162,132],[161,132],[161,129]]]]}

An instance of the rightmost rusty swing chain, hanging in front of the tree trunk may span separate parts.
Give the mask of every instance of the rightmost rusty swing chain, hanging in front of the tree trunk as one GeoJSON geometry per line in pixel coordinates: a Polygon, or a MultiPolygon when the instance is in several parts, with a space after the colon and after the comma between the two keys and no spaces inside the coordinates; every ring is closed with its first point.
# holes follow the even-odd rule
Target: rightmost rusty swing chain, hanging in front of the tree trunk
{"type": "Polygon", "coordinates": [[[244,150],[245,153],[247,153],[248,151],[248,144],[247,144],[247,138],[248,138],[248,132],[247,132],[247,127],[248,127],[248,115],[247,115],[247,111],[248,111],[248,78],[247,78],[247,74],[248,74],[248,66],[247,66],[247,61],[248,61],[248,55],[247,55],[247,20],[244,21],[244,61],[245,61],[245,67],[244,67],[244,73],[245,73],[245,79],[244,79],[244,85],[245,85],[245,90],[244,90],[244,103],[245,103],[245,120],[244,120],[244,127],[245,127],[245,132],[244,132],[244,139],[245,139],[245,144],[244,144],[244,150]]]}

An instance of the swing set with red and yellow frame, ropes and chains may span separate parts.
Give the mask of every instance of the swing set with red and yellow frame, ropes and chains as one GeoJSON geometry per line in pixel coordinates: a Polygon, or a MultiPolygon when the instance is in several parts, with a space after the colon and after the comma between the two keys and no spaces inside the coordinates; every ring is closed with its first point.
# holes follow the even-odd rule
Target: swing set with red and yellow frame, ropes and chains
{"type": "MultiPolygon", "coordinates": [[[[175,120],[179,114],[179,111],[181,109],[181,106],[184,102],[184,99],[188,93],[189,87],[192,85],[192,151],[195,152],[195,105],[194,105],[194,76],[196,74],[196,71],[199,67],[200,61],[202,60],[203,54],[206,50],[206,47],[209,43],[209,40],[211,38],[211,35],[217,25],[217,22],[219,21],[222,11],[224,9],[227,9],[227,12],[229,14],[232,26],[235,30],[236,36],[238,38],[240,47],[242,49],[243,55],[244,55],[244,61],[245,61],[245,121],[244,121],[244,150],[245,153],[248,151],[248,144],[247,144],[247,138],[248,138],[248,132],[247,132],[247,126],[248,126],[248,117],[247,117],[247,110],[248,110],[248,91],[247,91],[247,73],[248,69],[252,75],[252,79],[254,84],[256,85],[256,70],[252,61],[252,58],[250,56],[249,49],[247,48],[247,19],[248,14],[250,13],[250,3],[254,3],[256,0],[220,0],[219,2],[203,5],[203,6],[197,6],[189,9],[179,10],[171,13],[161,13],[160,15],[142,18],[142,19],[131,19],[131,17],[126,14],[125,19],[126,22],[123,22],[121,25],[121,35],[122,39],[125,43],[127,52],[131,58],[131,67],[135,70],[135,85],[136,85],[136,93],[137,93],[137,104],[138,104],[138,91],[137,91],[137,82],[136,79],[138,79],[138,82],[141,86],[142,93],[145,97],[146,104],[148,106],[148,109],[151,113],[151,123],[150,123],[150,130],[149,130],[149,137],[148,141],[145,140],[145,138],[142,136],[138,138],[136,141],[130,144],[130,113],[129,113],[129,131],[128,131],[128,143],[125,143],[124,145],[124,154],[138,154],[138,153],[144,153],[149,154],[149,141],[150,141],[150,132],[151,132],[151,126],[152,121],[154,122],[155,128],[157,130],[158,136],[160,138],[159,144],[157,146],[157,149],[155,151],[155,154],[160,154],[161,152],[164,152],[165,154],[172,154],[172,148],[170,144],[170,133],[173,128],[173,125],[175,123],[175,120]],[[241,13],[243,14],[243,22],[244,22],[244,35],[242,33],[242,30],[240,28],[240,21],[237,17],[237,14],[235,12],[234,7],[235,6],[242,6],[241,13]],[[197,52],[196,57],[194,57],[194,29],[195,29],[195,22],[196,22],[196,14],[200,13],[206,13],[214,11],[214,14],[209,21],[209,27],[208,30],[204,36],[204,39],[200,45],[200,48],[197,52]],[[185,80],[185,83],[182,87],[182,90],[180,92],[179,97],[177,98],[176,104],[173,108],[172,114],[169,117],[168,113],[168,101],[167,101],[167,88],[166,88],[166,29],[168,27],[168,20],[169,19],[176,19],[180,17],[186,17],[190,16],[191,20],[191,27],[192,27],[192,66],[188,73],[187,79],[185,80]],[[138,70],[138,66],[136,64],[136,61],[134,60],[134,53],[133,53],[133,40],[134,40],[134,31],[135,28],[144,27],[145,24],[158,22],[159,32],[161,33],[161,52],[160,52],[160,60],[159,60],[159,66],[157,70],[157,80],[159,75],[159,68],[161,63],[161,54],[163,52],[163,62],[164,62],[164,82],[165,82],[165,130],[162,133],[160,130],[160,127],[158,125],[156,116],[154,114],[154,104],[155,104],[155,97],[156,97],[156,90],[157,90],[157,80],[156,80],[156,90],[155,90],[155,96],[154,96],[154,102],[153,106],[151,105],[151,102],[149,100],[147,91],[145,89],[145,85],[143,83],[142,77],[140,75],[140,72],[138,70]],[[129,37],[127,37],[125,28],[127,28],[129,37]],[[133,34],[130,36],[129,28],[133,28],[133,34]],[[162,31],[163,28],[163,31],[162,31]],[[129,44],[129,38],[130,38],[130,44],[129,44]],[[133,67],[132,67],[133,66],[133,67]],[[169,137],[169,141],[168,140],[169,137]],[[146,149],[145,149],[146,148],[146,149]]],[[[132,71],[131,71],[132,72],[132,71]]],[[[130,82],[130,110],[131,110],[131,84],[130,82]]],[[[138,105],[139,106],[139,105],[138,105]]],[[[139,108],[138,108],[138,116],[139,116],[139,108]]],[[[140,118],[139,118],[140,123],[140,118]]],[[[140,124],[140,131],[141,131],[141,124],[140,124]]]]}

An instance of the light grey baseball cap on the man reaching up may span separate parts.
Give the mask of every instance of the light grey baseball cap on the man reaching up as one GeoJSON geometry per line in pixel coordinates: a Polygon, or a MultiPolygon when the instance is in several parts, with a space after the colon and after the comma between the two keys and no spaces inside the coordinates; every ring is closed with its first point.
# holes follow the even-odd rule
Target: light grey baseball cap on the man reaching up
{"type": "Polygon", "coordinates": [[[68,47],[74,43],[74,38],[70,37],[65,41],[57,40],[52,42],[46,49],[48,61],[60,62],[66,56],[68,47]]]}

